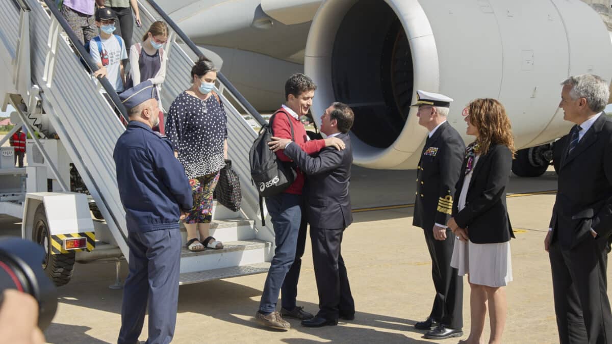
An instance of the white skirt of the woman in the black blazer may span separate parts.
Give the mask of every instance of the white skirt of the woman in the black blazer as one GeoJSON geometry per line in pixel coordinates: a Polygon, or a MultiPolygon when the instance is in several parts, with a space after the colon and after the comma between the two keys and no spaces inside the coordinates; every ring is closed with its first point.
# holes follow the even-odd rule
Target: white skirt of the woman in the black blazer
{"type": "Polygon", "coordinates": [[[512,281],[510,241],[492,244],[455,240],[450,266],[458,275],[469,275],[469,282],[492,287],[506,286],[512,281]]]}

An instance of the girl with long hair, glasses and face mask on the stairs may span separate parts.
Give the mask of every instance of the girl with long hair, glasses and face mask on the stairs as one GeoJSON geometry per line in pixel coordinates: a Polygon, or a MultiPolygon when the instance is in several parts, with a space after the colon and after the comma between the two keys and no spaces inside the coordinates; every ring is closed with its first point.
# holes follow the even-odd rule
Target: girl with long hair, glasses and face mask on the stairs
{"type": "MultiPolygon", "coordinates": [[[[157,89],[162,92],[163,81],[166,80],[166,56],[163,50],[168,40],[168,26],[163,21],[155,21],[149,30],[144,32],[143,42],[130,47],[130,72],[125,82],[125,88],[132,88],[146,80],[151,80],[157,89]]],[[[157,97],[160,108],[160,124],[153,130],[164,133],[163,107],[160,97],[157,97]]]]}

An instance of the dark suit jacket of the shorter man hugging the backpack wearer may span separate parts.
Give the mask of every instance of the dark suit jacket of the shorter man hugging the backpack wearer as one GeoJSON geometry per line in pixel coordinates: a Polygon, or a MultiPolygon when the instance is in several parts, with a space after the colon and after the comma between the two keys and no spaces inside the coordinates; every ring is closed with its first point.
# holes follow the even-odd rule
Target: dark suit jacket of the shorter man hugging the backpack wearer
{"type": "Polygon", "coordinates": [[[353,163],[351,137],[343,133],[336,137],[346,144],[342,151],[327,147],[311,157],[297,144],[285,148],[285,155],[306,174],[307,217],[313,227],[338,229],[353,222],[348,190],[353,163]]]}

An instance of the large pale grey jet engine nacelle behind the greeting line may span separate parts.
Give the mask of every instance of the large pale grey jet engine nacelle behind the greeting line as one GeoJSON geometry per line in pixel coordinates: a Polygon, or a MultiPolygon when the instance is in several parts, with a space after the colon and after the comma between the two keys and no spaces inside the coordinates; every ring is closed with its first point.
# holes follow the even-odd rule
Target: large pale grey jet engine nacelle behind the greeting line
{"type": "Polygon", "coordinates": [[[409,105],[416,90],[449,95],[449,122],[463,135],[470,100],[499,99],[517,148],[569,132],[559,110],[569,75],[612,77],[612,43],[599,15],[580,0],[330,0],[313,20],[305,73],[313,114],[351,105],[354,162],[415,168],[427,130],[409,105]]]}

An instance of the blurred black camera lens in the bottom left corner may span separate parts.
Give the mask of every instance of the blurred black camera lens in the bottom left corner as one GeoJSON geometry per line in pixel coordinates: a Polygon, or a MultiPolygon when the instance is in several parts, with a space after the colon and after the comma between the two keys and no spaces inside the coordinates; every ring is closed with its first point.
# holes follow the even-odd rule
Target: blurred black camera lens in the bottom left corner
{"type": "Polygon", "coordinates": [[[39,328],[44,331],[58,308],[57,290],[45,275],[45,250],[32,241],[17,237],[0,239],[0,294],[6,289],[28,293],[39,304],[39,328]]]}

